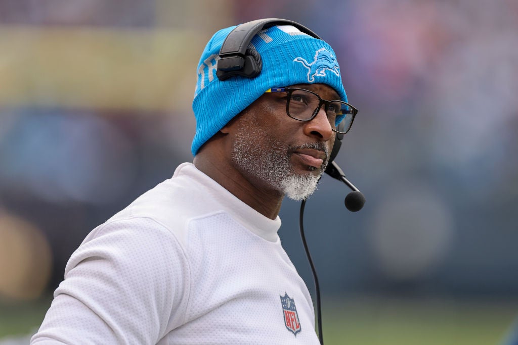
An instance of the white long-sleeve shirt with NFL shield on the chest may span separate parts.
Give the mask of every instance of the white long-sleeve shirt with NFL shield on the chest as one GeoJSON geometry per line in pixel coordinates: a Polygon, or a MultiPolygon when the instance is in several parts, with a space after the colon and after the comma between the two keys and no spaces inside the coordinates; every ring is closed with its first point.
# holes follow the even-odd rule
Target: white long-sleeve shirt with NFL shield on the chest
{"type": "Polygon", "coordinates": [[[31,344],[318,344],[280,225],[183,163],[84,239],[31,344]]]}

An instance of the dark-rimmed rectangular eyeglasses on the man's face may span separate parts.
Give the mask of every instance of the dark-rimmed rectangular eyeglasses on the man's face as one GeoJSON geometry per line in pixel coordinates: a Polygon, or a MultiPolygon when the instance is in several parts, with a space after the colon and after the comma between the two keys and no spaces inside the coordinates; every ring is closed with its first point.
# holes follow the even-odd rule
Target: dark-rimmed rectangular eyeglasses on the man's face
{"type": "Polygon", "coordinates": [[[265,93],[285,92],[286,114],[298,121],[311,121],[322,104],[334,132],[345,134],[351,129],[358,109],[340,100],[325,100],[312,91],[296,87],[272,87],[265,93]]]}

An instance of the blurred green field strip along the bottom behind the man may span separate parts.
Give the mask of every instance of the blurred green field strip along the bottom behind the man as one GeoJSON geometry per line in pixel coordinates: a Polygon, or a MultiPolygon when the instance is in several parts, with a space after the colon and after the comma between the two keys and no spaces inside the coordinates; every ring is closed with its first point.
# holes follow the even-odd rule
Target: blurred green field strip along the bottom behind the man
{"type": "MultiPolygon", "coordinates": [[[[1,339],[34,332],[50,298],[0,302],[1,339]]],[[[326,345],[499,345],[518,316],[518,301],[326,297],[326,345]]]]}

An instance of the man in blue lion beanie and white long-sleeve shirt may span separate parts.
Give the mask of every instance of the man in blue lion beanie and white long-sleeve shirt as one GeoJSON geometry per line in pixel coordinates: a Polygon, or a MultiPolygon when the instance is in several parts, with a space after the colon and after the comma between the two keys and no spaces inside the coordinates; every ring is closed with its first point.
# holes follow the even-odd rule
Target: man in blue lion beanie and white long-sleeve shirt
{"type": "Polygon", "coordinates": [[[200,58],[194,162],[85,238],[32,344],[318,343],[278,214],[315,190],[354,114],[333,49],[294,26],[252,39],[258,76],[216,78],[233,28],[200,58]]]}

